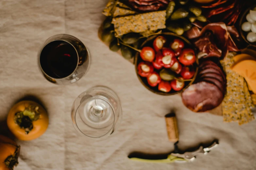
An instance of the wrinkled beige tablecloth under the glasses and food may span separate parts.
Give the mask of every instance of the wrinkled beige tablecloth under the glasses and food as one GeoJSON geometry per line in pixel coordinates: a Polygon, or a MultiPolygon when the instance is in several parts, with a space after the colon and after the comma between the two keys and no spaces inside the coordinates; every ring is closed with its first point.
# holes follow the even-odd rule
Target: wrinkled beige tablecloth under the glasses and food
{"type": "MultiPolygon", "coordinates": [[[[179,95],[160,96],[143,87],[134,66],[111,52],[97,36],[107,0],[0,0],[0,120],[26,95],[38,97],[49,113],[46,133],[21,145],[15,170],[254,170],[256,121],[239,126],[221,116],[193,113],[179,95]],[[68,86],[47,82],[36,56],[40,45],[55,34],[78,37],[90,50],[92,64],[80,81],[68,86]],[[117,133],[103,141],[78,135],[71,123],[75,98],[94,85],[119,95],[123,121],[117,133]],[[181,149],[219,139],[219,147],[192,163],[139,163],[132,151],[169,152],[164,115],[175,109],[181,149]]],[[[1,130],[6,133],[4,123],[1,130]]]]}

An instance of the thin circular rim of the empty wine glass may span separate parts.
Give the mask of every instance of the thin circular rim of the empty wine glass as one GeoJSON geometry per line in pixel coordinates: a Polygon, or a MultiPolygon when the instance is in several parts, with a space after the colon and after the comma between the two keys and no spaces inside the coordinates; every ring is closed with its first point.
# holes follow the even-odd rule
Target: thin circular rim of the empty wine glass
{"type": "MultiPolygon", "coordinates": [[[[100,98],[100,97],[95,97],[95,96],[93,96],[93,97],[90,97],[90,98],[88,98],[88,99],[85,99],[82,103],[84,103],[86,100],[89,100],[89,99],[92,99],[92,98],[96,98],[96,99],[101,99],[101,100],[103,100],[103,99],[100,98]]],[[[87,136],[87,137],[90,137],[90,138],[103,138],[104,136],[108,135],[109,132],[114,128],[115,119],[116,119],[116,118],[115,118],[114,108],[113,108],[113,106],[112,106],[107,100],[104,100],[104,101],[107,102],[107,103],[111,106],[111,109],[112,109],[113,114],[114,114],[114,121],[113,121],[113,124],[112,124],[110,130],[109,130],[106,134],[104,134],[104,135],[102,135],[102,136],[97,136],[97,137],[93,137],[93,136],[89,136],[89,135],[84,134],[84,133],[80,130],[80,128],[77,126],[77,118],[76,118],[76,115],[77,115],[77,110],[78,110],[78,108],[79,108],[80,105],[82,104],[82,103],[80,103],[79,106],[77,107],[76,112],[75,112],[75,116],[74,116],[75,122],[73,122],[73,125],[75,125],[75,126],[77,127],[76,129],[79,130],[78,133],[80,133],[81,135],[85,135],[85,136],[87,136]]],[[[80,116],[80,115],[79,115],[79,116],[80,116]]]]}

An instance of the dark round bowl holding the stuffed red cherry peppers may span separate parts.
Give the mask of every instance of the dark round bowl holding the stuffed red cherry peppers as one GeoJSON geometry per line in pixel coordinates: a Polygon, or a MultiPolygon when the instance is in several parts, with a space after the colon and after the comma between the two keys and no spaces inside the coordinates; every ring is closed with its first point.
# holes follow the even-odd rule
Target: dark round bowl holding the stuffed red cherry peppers
{"type": "MultiPolygon", "coordinates": [[[[167,39],[167,43],[166,44],[170,44],[175,38],[178,38],[178,39],[181,39],[183,40],[184,42],[184,45],[185,47],[184,48],[191,48],[193,50],[195,50],[195,54],[196,54],[196,48],[184,37],[182,36],[179,36],[177,34],[174,34],[174,33],[162,33],[162,34],[159,34],[159,35],[152,35],[150,37],[148,37],[145,42],[141,45],[141,49],[143,47],[152,47],[153,48],[153,41],[154,39],[157,37],[157,36],[160,36],[162,35],[163,37],[165,37],[167,39]]],[[[137,70],[137,66],[140,62],[143,62],[142,58],[140,57],[140,53],[137,52],[136,55],[135,55],[135,60],[134,60],[134,65],[135,65],[135,70],[136,70],[136,73],[137,73],[137,76],[140,80],[140,82],[143,84],[143,86],[145,88],[147,88],[148,90],[150,90],[151,92],[153,93],[156,93],[156,94],[160,94],[160,95],[164,95],[164,96],[168,96],[168,95],[173,95],[173,94],[177,94],[177,93],[180,93],[180,92],[183,92],[186,88],[188,88],[188,86],[190,86],[196,79],[196,75],[197,75],[197,72],[198,72],[198,58],[197,58],[197,55],[196,55],[196,62],[193,64],[194,66],[194,69],[195,69],[195,75],[194,77],[192,78],[191,81],[185,81],[185,86],[182,90],[180,91],[175,91],[175,90],[171,90],[170,92],[162,92],[162,91],[159,91],[158,90],[158,86],[156,87],[151,87],[148,85],[147,83],[147,79],[144,78],[144,77],[141,77],[139,74],[138,74],[138,70],[137,70]]],[[[182,65],[182,64],[181,64],[182,65]]],[[[157,70],[157,69],[154,69],[154,71],[156,71],[157,73],[159,73],[162,69],[160,70],[157,70]]]]}

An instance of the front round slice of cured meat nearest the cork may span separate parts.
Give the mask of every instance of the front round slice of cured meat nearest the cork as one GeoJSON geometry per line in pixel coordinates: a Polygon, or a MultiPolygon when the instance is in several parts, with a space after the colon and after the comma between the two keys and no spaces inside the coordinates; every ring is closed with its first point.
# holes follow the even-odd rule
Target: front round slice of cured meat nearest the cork
{"type": "Polygon", "coordinates": [[[205,112],[219,106],[223,94],[212,83],[205,81],[190,85],[181,93],[183,104],[194,112],[205,112]]]}

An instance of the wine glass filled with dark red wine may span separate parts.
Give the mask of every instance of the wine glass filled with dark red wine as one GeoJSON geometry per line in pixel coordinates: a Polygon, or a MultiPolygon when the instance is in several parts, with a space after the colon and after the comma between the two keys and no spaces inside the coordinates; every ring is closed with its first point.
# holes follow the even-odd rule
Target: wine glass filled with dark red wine
{"type": "Polygon", "coordinates": [[[58,85],[77,82],[86,74],[90,65],[87,48],[79,39],[68,34],[48,38],[37,57],[44,78],[58,85]]]}

